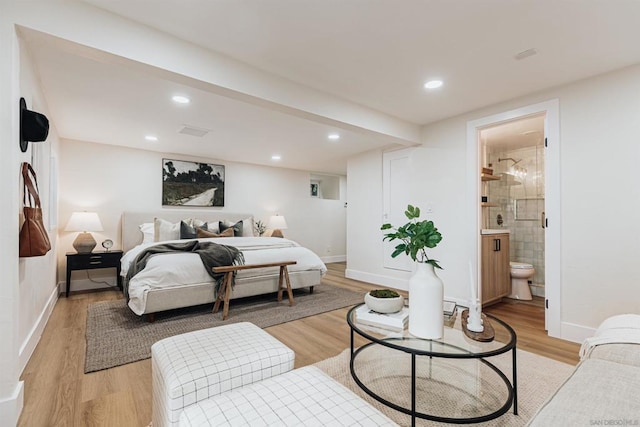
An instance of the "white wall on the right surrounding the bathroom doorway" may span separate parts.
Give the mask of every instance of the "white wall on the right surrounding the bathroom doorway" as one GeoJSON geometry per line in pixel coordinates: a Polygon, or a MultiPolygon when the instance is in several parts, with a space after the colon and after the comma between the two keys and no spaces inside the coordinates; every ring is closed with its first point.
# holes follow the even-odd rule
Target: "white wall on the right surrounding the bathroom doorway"
{"type": "MultiPolygon", "coordinates": [[[[640,66],[484,108],[424,128],[423,149],[414,162],[431,172],[412,173],[418,205],[433,199],[436,226],[444,239],[436,258],[445,270],[445,294],[468,297],[467,256],[477,236],[467,203],[467,122],[549,99],[560,102],[562,337],[581,341],[606,317],[640,313],[640,66]],[[440,152],[438,152],[440,150],[440,152]],[[444,179],[446,177],[446,179],[444,179]],[[438,207],[442,203],[444,209],[438,207]],[[442,217],[439,217],[442,215],[442,217]],[[451,217],[449,217],[451,216],[451,217]],[[458,231],[460,230],[460,231],[458,231]],[[451,270],[454,270],[453,272],[451,270]]],[[[352,191],[348,212],[348,271],[377,275],[381,283],[406,282],[407,275],[380,266],[379,203],[354,183],[381,180],[381,153],[349,162],[352,191]],[[368,207],[368,208],[366,208],[368,207]],[[366,240],[360,240],[366,236],[366,240]],[[367,263],[366,260],[370,262],[367,263]]]]}

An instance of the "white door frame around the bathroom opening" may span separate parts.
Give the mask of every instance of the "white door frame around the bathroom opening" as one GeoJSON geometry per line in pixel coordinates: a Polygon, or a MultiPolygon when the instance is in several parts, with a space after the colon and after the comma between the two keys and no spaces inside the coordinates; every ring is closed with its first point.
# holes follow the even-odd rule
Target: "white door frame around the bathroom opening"
{"type": "MultiPolygon", "coordinates": [[[[548,335],[561,336],[561,205],[560,205],[560,102],[551,99],[538,104],[504,111],[467,122],[467,194],[471,225],[469,230],[475,245],[471,248],[471,259],[475,259],[476,283],[480,275],[480,230],[482,208],[480,207],[480,130],[504,122],[544,113],[545,148],[545,212],[549,226],[545,232],[545,327],[548,335]]],[[[479,293],[478,293],[479,294],[479,293]]]]}

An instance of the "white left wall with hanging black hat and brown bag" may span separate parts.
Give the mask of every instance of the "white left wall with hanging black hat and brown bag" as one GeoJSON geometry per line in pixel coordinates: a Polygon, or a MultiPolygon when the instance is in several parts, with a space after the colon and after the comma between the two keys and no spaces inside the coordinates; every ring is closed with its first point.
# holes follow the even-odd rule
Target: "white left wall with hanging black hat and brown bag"
{"type": "Polygon", "coordinates": [[[48,114],[39,79],[31,61],[21,46],[13,26],[11,8],[0,14],[0,420],[3,425],[15,425],[22,410],[23,386],[20,374],[37,344],[56,300],[55,227],[50,230],[52,251],[43,257],[19,258],[18,235],[22,212],[22,181],[20,165],[31,162],[38,174],[40,195],[48,222],[50,209],[56,201],[50,197],[49,163],[57,149],[55,127],[46,142],[34,149],[29,144],[26,153],[19,148],[19,99],[24,97],[31,110],[48,114]]]}

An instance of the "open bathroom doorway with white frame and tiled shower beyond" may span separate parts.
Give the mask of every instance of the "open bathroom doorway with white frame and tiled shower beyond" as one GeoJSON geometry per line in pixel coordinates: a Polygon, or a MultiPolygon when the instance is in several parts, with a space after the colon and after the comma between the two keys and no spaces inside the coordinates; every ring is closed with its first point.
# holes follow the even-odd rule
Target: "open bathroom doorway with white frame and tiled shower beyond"
{"type": "MultiPolygon", "coordinates": [[[[545,329],[561,336],[560,292],[560,127],[557,99],[498,113],[467,123],[469,214],[475,245],[471,248],[477,283],[481,282],[481,231],[498,226],[513,228],[512,260],[530,259],[537,269],[531,279],[534,294],[544,295],[545,329]],[[540,129],[542,124],[542,129],[540,129]],[[505,126],[505,127],[502,127],[505,126]],[[540,130],[542,132],[540,133],[540,130]],[[485,132],[486,131],[486,132],[485,132]],[[492,135],[492,133],[494,135],[492,135]],[[499,133],[513,134],[501,138],[499,133]],[[519,134],[516,136],[515,134],[519,134]],[[488,146],[485,139],[490,141],[488,146]],[[514,141],[522,139],[519,143],[514,141]],[[496,185],[493,200],[483,199],[486,180],[482,168],[491,163],[494,174],[505,174],[496,185]],[[534,179],[535,178],[535,179],[534,179]],[[498,185],[501,187],[498,188],[498,185]],[[494,206],[495,205],[495,206],[494,206]],[[500,215],[500,217],[498,216],[500,215]],[[534,218],[535,217],[535,218],[534,218]],[[543,228],[544,226],[544,228],[543,228]],[[537,230],[534,232],[534,228],[537,230]],[[520,231],[518,233],[518,231],[520,231]],[[537,234],[536,234],[537,233],[537,234]],[[541,234],[540,234],[541,233],[541,234]],[[542,260],[542,262],[540,261],[542,260]]],[[[471,235],[470,235],[471,237],[471,235]]],[[[522,262],[522,261],[520,261],[522,262]]]]}

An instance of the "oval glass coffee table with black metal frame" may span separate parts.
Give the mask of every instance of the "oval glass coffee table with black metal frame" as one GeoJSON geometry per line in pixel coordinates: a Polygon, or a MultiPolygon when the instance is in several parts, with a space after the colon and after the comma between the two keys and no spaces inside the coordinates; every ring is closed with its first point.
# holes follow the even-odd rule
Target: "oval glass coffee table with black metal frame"
{"type": "Polygon", "coordinates": [[[484,422],[512,406],[518,414],[516,333],[509,325],[486,315],[495,339],[475,341],[462,330],[458,312],[455,321],[445,323],[441,339],[426,340],[413,337],[407,328],[391,332],[358,323],[356,310],[361,305],[347,314],[350,368],[355,382],[371,397],[410,415],[413,426],[416,418],[484,422]],[[369,342],[355,348],[355,334],[369,342]],[[511,357],[495,357],[509,351],[511,357]]]}

